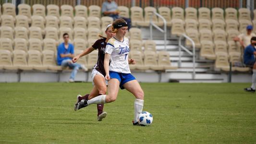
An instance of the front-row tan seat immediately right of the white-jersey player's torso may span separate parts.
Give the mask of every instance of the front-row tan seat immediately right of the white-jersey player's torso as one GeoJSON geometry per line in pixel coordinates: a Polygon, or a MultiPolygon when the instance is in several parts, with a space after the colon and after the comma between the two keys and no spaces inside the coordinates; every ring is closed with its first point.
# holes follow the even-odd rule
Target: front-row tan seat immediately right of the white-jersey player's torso
{"type": "Polygon", "coordinates": [[[131,55],[131,59],[136,61],[135,64],[130,64],[129,67],[131,70],[148,70],[149,66],[144,65],[143,62],[143,54],[141,51],[138,50],[131,50],[129,55],[131,55]]]}

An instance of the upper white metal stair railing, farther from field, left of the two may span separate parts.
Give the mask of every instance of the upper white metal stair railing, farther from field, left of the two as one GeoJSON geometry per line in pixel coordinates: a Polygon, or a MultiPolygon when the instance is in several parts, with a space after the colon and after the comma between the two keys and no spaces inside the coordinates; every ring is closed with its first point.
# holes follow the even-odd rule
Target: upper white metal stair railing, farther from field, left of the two
{"type": "Polygon", "coordinates": [[[164,29],[161,29],[159,26],[157,26],[156,24],[154,24],[154,22],[152,21],[152,16],[150,17],[150,39],[152,40],[152,30],[153,30],[153,27],[154,26],[155,28],[157,28],[160,32],[164,33],[164,49],[166,50],[166,37],[167,37],[167,34],[166,34],[166,20],[157,12],[154,12],[154,14],[156,14],[159,18],[161,18],[163,20],[163,23],[164,23],[164,29]]]}

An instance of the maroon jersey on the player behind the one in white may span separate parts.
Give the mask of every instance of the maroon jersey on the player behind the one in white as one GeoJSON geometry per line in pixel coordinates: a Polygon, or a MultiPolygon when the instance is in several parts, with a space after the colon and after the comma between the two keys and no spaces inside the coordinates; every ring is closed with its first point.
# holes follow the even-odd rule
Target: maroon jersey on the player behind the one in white
{"type": "Polygon", "coordinates": [[[93,67],[98,72],[100,72],[102,75],[106,75],[106,72],[104,70],[104,57],[105,57],[105,49],[106,49],[106,38],[98,39],[92,47],[95,49],[98,49],[98,61],[93,67]]]}

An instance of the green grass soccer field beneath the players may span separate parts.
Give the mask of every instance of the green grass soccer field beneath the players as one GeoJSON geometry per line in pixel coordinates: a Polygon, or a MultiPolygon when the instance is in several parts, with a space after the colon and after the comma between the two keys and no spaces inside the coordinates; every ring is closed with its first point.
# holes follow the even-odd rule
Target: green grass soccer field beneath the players
{"type": "Polygon", "coordinates": [[[97,121],[96,105],[73,111],[91,83],[1,83],[0,143],[256,143],[256,94],[250,84],[142,83],[148,127],[133,126],[134,96],[120,90],[97,121]]]}

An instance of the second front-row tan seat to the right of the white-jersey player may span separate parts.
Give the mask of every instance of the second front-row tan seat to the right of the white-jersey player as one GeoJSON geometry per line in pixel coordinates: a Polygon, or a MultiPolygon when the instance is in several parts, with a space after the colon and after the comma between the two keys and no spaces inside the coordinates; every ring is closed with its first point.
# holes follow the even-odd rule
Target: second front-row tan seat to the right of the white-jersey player
{"type": "Polygon", "coordinates": [[[157,53],[155,51],[144,51],[144,64],[154,71],[164,70],[163,65],[158,65],[157,53]]]}

